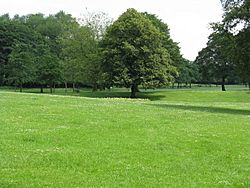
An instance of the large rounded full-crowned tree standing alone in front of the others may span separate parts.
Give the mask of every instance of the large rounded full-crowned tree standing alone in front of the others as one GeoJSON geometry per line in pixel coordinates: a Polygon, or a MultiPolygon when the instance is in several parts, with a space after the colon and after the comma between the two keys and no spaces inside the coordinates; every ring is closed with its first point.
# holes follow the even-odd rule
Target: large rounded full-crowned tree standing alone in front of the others
{"type": "Polygon", "coordinates": [[[128,9],[108,28],[102,41],[108,82],[130,87],[131,98],[136,97],[140,84],[171,82],[175,68],[163,47],[163,38],[143,13],[128,9]]]}

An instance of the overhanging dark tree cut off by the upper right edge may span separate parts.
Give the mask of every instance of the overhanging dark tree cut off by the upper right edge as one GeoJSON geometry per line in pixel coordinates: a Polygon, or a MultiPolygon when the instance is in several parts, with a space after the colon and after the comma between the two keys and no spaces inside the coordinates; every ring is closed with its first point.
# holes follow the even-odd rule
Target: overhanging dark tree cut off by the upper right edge
{"type": "Polygon", "coordinates": [[[250,89],[250,1],[221,0],[225,9],[223,24],[228,32],[235,35],[233,52],[239,77],[248,83],[250,89]]]}

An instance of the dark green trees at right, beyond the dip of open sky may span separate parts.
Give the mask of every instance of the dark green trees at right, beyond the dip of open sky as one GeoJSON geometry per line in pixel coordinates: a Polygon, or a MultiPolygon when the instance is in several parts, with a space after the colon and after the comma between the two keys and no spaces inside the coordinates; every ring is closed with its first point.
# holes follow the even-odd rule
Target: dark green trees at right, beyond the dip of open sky
{"type": "Polygon", "coordinates": [[[195,60],[200,79],[208,83],[220,80],[223,91],[226,81],[244,82],[250,88],[250,1],[221,2],[223,21],[211,24],[214,32],[195,60]]]}

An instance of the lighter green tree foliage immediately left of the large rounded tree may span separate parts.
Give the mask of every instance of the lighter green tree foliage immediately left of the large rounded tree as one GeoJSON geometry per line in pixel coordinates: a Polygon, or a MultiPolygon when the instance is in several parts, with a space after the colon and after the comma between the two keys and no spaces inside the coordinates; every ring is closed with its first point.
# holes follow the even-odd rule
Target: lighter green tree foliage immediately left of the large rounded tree
{"type": "Polygon", "coordinates": [[[100,80],[100,49],[94,31],[86,26],[72,28],[62,38],[64,79],[96,87],[100,80]]]}

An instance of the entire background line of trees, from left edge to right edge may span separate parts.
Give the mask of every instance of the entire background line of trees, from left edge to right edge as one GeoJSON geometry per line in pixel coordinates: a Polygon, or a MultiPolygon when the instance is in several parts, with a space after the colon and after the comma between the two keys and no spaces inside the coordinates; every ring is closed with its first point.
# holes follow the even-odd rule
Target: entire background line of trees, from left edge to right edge
{"type": "Polygon", "coordinates": [[[94,91],[122,86],[131,88],[135,97],[138,86],[249,83],[248,3],[225,3],[223,23],[213,24],[213,29],[207,47],[190,62],[181,55],[166,23],[135,9],[128,9],[114,22],[104,13],[86,13],[78,20],[64,12],[3,15],[0,85],[20,90],[24,85],[39,86],[41,92],[44,87],[52,91],[56,84],[74,90],[84,85],[94,91]],[[238,14],[245,6],[248,17],[242,25],[238,14]],[[238,23],[243,28],[234,34],[238,23]]]}

